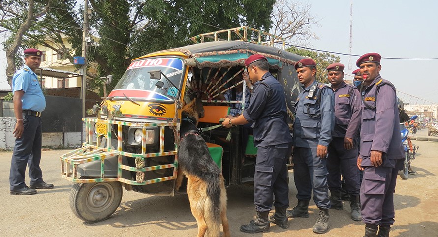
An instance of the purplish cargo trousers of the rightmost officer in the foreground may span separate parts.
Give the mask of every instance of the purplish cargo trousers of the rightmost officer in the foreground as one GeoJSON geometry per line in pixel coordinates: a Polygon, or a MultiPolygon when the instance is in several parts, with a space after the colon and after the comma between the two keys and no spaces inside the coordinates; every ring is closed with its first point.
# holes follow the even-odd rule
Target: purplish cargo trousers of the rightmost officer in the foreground
{"type": "MultiPolygon", "coordinates": [[[[403,161],[398,160],[396,167],[403,161]]],[[[363,221],[365,224],[394,224],[394,192],[399,169],[383,166],[364,168],[360,187],[363,221]]]]}

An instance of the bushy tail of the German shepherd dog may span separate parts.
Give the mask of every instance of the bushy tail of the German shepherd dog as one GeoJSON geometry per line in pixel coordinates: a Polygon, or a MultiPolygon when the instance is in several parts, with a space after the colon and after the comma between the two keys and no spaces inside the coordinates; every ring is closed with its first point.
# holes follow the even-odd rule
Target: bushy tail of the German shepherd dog
{"type": "Polygon", "coordinates": [[[204,208],[204,219],[208,226],[206,236],[218,237],[220,236],[221,202],[223,200],[221,199],[220,179],[215,177],[210,180],[215,181],[207,184],[207,200],[204,208]]]}

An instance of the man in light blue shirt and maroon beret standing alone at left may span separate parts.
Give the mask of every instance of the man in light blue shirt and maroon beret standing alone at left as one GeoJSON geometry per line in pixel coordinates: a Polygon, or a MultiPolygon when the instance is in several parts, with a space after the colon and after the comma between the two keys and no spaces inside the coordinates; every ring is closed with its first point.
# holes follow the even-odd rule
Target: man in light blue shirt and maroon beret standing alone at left
{"type": "Polygon", "coordinates": [[[17,118],[14,129],[15,146],[9,174],[10,193],[31,195],[36,189],[53,188],[42,179],[41,161],[41,112],[46,108],[46,99],[34,71],[41,64],[42,52],[27,49],[25,66],[12,78],[14,113],[17,118]],[[26,165],[29,166],[30,188],[25,184],[26,165]]]}

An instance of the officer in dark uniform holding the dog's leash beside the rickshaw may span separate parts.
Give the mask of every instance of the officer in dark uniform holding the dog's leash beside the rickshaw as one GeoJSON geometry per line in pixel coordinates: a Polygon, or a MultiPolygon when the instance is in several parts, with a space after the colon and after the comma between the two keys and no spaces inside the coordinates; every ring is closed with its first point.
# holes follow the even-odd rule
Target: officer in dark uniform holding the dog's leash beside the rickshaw
{"type": "Polygon", "coordinates": [[[255,218],[240,230],[246,233],[268,232],[270,221],[288,228],[286,209],[289,207],[286,160],[290,155],[292,138],[286,122],[286,100],[282,85],[269,73],[268,60],[251,55],[245,67],[254,89],[250,104],[237,118],[224,118],[222,125],[253,123],[257,158],[254,174],[255,218]],[[268,219],[274,202],[275,213],[268,219]]]}

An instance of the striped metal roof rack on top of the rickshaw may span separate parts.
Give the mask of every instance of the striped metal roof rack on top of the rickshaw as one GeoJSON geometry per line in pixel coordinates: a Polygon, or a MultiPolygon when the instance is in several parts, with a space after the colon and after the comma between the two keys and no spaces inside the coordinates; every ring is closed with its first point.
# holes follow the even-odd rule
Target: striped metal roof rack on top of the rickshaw
{"type": "Polygon", "coordinates": [[[249,26],[242,26],[242,27],[236,27],[236,28],[230,28],[225,30],[218,30],[214,32],[209,32],[205,34],[199,34],[196,36],[191,37],[190,39],[195,43],[204,43],[205,38],[213,39],[214,41],[231,41],[231,34],[236,34],[240,40],[238,41],[245,41],[250,42],[254,44],[260,44],[260,45],[266,45],[266,46],[272,46],[274,47],[274,44],[279,43],[282,44],[282,49],[284,50],[286,48],[286,41],[279,36],[270,34],[268,32],[265,32],[263,30],[257,30],[255,28],[249,27],[249,26]],[[226,39],[219,38],[219,34],[227,34],[226,39]],[[248,38],[248,35],[252,35],[252,33],[258,34],[258,41],[251,40],[248,38]],[[262,35],[271,37],[271,40],[269,41],[262,41],[262,35]]]}

